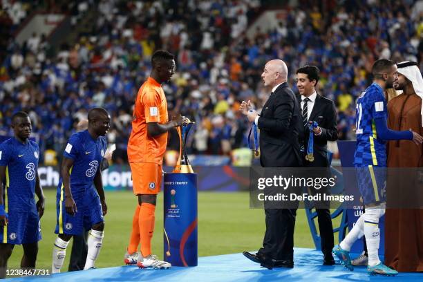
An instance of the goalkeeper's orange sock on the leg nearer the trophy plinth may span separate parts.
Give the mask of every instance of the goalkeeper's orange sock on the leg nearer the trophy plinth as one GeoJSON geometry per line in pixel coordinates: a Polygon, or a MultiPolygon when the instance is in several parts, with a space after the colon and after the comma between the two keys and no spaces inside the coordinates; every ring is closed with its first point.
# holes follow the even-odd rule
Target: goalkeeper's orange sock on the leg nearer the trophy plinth
{"type": "Polygon", "coordinates": [[[142,203],[139,216],[141,254],[146,257],[151,254],[151,238],[154,232],[154,212],[156,206],[149,203],[142,203]]]}

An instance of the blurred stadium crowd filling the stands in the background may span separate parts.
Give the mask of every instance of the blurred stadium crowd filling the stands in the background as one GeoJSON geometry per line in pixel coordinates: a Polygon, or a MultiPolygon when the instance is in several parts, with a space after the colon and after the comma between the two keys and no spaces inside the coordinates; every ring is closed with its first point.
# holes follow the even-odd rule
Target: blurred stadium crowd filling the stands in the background
{"type": "MultiPolygon", "coordinates": [[[[11,135],[12,113],[27,111],[41,155],[59,153],[88,109],[102,106],[112,114],[113,160],[126,162],[133,101],[159,48],[176,55],[164,91],[171,115],[197,122],[193,153],[228,155],[247,145],[250,124],[237,109],[242,100],[260,109],[267,99],[261,73],[269,59],[286,62],[294,91],[297,68],[320,68],[319,93],[337,104],[341,140],[354,138],[355,99],[370,84],[375,59],[407,59],[423,70],[423,1],[298,1],[277,28],[257,28],[252,39],[245,30],[263,10],[259,0],[80,2],[80,12],[95,9],[97,21],[54,57],[41,35],[3,49],[0,134],[11,135]]],[[[178,147],[174,137],[171,148],[178,147]]]]}

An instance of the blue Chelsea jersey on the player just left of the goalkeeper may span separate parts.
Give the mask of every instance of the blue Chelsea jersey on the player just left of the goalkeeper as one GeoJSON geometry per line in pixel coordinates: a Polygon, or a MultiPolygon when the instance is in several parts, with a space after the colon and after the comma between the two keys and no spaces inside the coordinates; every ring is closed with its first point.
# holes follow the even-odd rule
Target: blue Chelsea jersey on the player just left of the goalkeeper
{"type": "MultiPolygon", "coordinates": [[[[85,191],[93,185],[95,173],[100,169],[107,142],[104,136],[94,140],[88,130],[77,132],[68,140],[64,150],[64,158],[73,160],[71,167],[71,192],[85,191]]],[[[62,188],[62,178],[59,182],[62,188]]]]}

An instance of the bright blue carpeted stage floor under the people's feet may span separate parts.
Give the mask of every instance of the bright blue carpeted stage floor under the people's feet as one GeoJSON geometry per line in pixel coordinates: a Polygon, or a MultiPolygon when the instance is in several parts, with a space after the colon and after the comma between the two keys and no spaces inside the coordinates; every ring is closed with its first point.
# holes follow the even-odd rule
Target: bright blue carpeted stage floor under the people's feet
{"type": "MultiPolygon", "coordinates": [[[[355,257],[355,256],[353,256],[355,257]]],[[[294,268],[267,270],[245,259],[243,254],[205,256],[198,267],[172,267],[170,270],[140,270],[135,266],[100,268],[80,272],[64,272],[48,278],[25,277],[6,281],[423,281],[423,274],[400,273],[396,277],[369,276],[366,267],[353,272],[341,265],[321,265],[321,252],[295,248],[294,268]]]]}

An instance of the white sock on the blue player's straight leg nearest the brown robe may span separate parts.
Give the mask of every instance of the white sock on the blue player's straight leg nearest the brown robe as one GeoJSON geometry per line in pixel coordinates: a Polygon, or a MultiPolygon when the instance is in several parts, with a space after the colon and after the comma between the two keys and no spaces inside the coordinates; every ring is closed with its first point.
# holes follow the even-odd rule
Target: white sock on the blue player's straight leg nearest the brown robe
{"type": "Polygon", "coordinates": [[[385,209],[380,207],[366,208],[366,212],[363,214],[369,266],[375,266],[380,263],[378,255],[380,243],[379,218],[384,214],[385,209]]]}

